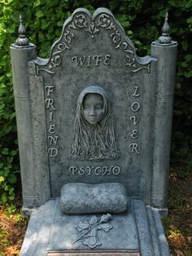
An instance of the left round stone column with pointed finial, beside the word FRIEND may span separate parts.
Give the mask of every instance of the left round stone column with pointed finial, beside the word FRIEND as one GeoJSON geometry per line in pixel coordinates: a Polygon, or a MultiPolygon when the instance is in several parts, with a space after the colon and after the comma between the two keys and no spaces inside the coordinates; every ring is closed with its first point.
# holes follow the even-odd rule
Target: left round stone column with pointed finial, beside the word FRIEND
{"type": "Polygon", "coordinates": [[[23,191],[23,209],[37,204],[33,174],[33,136],[29,96],[28,61],[36,58],[36,46],[28,42],[20,16],[19,38],[11,44],[11,65],[15,95],[15,111],[20,148],[20,171],[23,191]]]}

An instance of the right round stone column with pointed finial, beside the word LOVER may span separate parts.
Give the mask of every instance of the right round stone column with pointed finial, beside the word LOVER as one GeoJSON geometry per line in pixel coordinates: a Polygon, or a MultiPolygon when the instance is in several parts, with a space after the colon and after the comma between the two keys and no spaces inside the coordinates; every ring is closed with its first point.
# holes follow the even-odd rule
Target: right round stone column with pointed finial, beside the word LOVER
{"type": "Polygon", "coordinates": [[[168,14],[162,31],[162,36],[158,41],[152,42],[151,46],[151,54],[158,60],[151,203],[156,208],[166,210],[172,104],[177,61],[177,42],[172,41],[168,35],[168,14]]]}

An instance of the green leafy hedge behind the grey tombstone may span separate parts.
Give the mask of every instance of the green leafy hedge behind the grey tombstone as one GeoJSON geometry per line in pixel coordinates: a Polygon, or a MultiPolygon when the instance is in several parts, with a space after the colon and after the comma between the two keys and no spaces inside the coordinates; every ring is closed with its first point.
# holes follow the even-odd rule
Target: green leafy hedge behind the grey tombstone
{"type": "Polygon", "coordinates": [[[4,203],[14,199],[20,174],[9,50],[17,38],[19,15],[24,17],[30,42],[36,44],[38,55],[45,58],[60,36],[63,22],[77,7],[89,11],[109,8],[134,42],[138,55],[151,54],[151,42],[159,38],[168,11],[171,36],[179,44],[172,162],[185,161],[192,166],[192,0],[0,0],[0,195],[4,203]]]}

